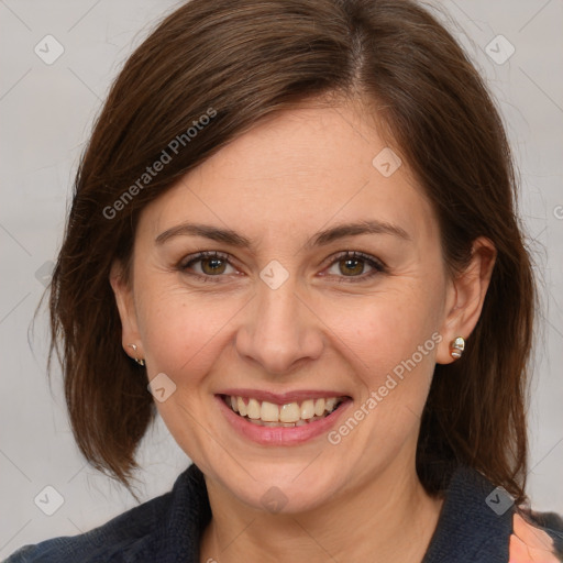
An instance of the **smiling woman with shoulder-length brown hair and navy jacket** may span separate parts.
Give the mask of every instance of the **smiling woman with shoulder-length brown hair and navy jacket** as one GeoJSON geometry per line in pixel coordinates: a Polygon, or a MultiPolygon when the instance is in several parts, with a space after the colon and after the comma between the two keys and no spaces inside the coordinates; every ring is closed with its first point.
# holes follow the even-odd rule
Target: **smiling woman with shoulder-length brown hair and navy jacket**
{"type": "Polygon", "coordinates": [[[9,561],[559,561],[561,519],[522,508],[516,189],[417,3],[179,8],[98,119],[51,313],[87,460],[129,486],[158,412],[194,464],[9,561]]]}

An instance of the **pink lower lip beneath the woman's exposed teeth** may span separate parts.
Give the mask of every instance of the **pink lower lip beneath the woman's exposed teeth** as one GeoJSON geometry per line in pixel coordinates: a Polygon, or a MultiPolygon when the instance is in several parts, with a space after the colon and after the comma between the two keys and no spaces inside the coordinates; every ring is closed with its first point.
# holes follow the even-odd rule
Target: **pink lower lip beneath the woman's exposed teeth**
{"type": "Polygon", "coordinates": [[[227,420],[231,423],[235,431],[244,438],[252,440],[262,445],[296,445],[312,440],[331,427],[335,426],[342,413],[352,404],[352,399],[346,399],[340,407],[321,420],[309,422],[301,427],[262,427],[250,422],[246,418],[236,415],[227,406],[223,398],[216,395],[219,401],[219,408],[224,412],[227,420]]]}

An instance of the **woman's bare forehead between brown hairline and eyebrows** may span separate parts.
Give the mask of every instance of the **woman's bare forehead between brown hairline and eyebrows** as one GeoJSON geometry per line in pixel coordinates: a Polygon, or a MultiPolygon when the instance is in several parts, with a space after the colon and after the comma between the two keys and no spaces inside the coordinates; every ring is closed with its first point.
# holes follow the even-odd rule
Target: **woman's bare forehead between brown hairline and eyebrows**
{"type": "Polygon", "coordinates": [[[142,221],[153,239],[188,220],[256,241],[358,219],[434,235],[432,208],[407,163],[369,122],[350,106],[271,115],[190,170],[142,221]]]}

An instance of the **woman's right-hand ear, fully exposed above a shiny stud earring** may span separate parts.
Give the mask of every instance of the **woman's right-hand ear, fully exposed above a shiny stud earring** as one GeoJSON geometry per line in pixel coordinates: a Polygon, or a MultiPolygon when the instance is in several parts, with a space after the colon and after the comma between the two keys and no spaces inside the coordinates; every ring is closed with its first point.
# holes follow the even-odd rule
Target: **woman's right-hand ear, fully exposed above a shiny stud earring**
{"type": "Polygon", "coordinates": [[[449,364],[454,361],[450,355],[450,342],[456,336],[467,339],[477,324],[496,255],[493,242],[479,236],[473,242],[472,257],[467,267],[450,280],[446,317],[440,331],[443,341],[440,343],[435,358],[439,364],[449,364]]]}

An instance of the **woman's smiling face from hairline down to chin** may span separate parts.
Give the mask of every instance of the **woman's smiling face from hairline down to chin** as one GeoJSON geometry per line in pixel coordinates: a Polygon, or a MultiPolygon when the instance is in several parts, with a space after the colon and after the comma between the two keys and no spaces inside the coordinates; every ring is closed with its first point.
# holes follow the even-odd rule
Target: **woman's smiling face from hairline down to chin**
{"type": "Polygon", "coordinates": [[[432,208],[397,165],[354,108],[302,108],[142,212],[133,288],[114,285],[123,345],[180,448],[253,507],[301,511],[413,473],[434,364],[466,327],[432,208]],[[327,417],[320,399],[344,397],[327,417]]]}

